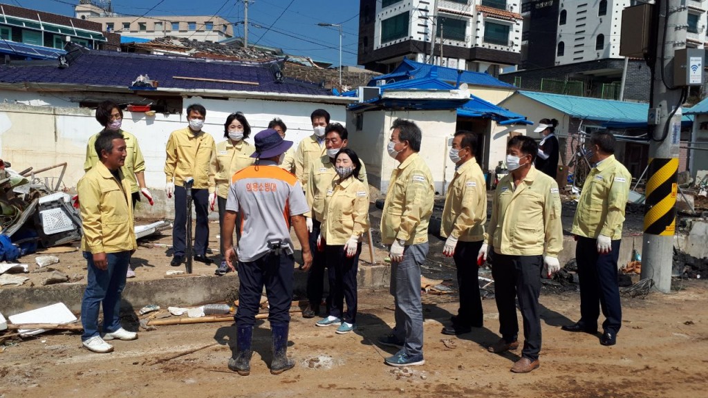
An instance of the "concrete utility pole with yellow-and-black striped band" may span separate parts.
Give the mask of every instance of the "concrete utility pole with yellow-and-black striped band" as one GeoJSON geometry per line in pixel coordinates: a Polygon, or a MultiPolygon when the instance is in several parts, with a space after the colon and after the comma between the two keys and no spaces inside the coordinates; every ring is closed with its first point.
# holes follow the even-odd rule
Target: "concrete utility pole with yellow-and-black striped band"
{"type": "MultiPolygon", "coordinates": [[[[644,207],[641,278],[651,278],[661,292],[671,290],[673,235],[676,224],[676,192],[683,86],[674,84],[673,58],[677,47],[685,47],[687,11],[681,0],[657,0],[653,9],[656,57],[653,64],[651,108],[659,113],[651,130],[649,179],[644,207]],[[658,23],[656,23],[658,22],[658,23]]],[[[651,114],[650,110],[650,114],[651,114]]],[[[651,124],[651,123],[650,123],[651,124]]]]}

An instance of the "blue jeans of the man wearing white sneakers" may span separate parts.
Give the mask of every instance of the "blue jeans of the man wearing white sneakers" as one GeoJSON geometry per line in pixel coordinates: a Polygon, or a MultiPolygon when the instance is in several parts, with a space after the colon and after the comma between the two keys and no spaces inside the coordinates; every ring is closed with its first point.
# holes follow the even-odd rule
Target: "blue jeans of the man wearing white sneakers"
{"type": "Polygon", "coordinates": [[[105,271],[93,265],[93,254],[84,251],[88,263],[88,284],[81,301],[81,324],[84,334],[81,341],[98,336],[98,311],[103,304],[103,332],[120,329],[120,293],[125,288],[125,273],[130,266],[130,251],[106,254],[105,271]]]}

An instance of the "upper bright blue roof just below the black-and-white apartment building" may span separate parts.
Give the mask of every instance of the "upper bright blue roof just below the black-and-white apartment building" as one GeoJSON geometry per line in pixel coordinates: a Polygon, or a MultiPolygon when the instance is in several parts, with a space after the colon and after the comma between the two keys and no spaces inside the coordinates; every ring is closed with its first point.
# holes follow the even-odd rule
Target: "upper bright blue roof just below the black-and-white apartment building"
{"type": "MultiPolygon", "coordinates": [[[[421,77],[428,76],[430,74],[430,68],[433,65],[423,64],[421,62],[411,61],[411,59],[404,59],[399,67],[389,74],[383,74],[381,76],[376,76],[371,79],[369,86],[375,86],[377,80],[387,81],[387,83],[392,83],[392,81],[401,81],[407,79],[420,79],[421,77]]],[[[455,84],[457,82],[457,69],[448,67],[436,67],[438,69],[438,78],[447,81],[450,84],[455,84]]],[[[506,89],[514,89],[515,86],[508,84],[504,81],[496,79],[491,74],[480,73],[480,72],[469,72],[463,71],[460,77],[460,83],[472,84],[475,86],[493,86],[493,87],[503,87],[506,89]]]]}

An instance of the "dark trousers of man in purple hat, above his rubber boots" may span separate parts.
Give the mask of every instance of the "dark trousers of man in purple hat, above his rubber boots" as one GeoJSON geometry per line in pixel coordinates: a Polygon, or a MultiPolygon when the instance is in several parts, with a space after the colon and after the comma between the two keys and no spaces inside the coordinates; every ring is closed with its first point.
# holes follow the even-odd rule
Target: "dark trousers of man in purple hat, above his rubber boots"
{"type": "Polygon", "coordinates": [[[295,258],[284,252],[280,256],[269,253],[248,263],[239,261],[239,309],[234,316],[236,326],[256,324],[264,285],[268,297],[268,321],[271,325],[289,324],[294,273],[295,258]]]}

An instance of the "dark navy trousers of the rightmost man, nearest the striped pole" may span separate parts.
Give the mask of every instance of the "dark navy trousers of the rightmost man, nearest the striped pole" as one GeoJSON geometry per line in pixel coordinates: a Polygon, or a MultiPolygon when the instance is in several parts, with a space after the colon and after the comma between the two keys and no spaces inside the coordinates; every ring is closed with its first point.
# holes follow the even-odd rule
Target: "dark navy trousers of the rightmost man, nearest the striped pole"
{"type": "Polygon", "coordinates": [[[587,329],[598,326],[600,308],[605,322],[603,329],[617,334],[622,326],[622,305],[617,284],[617,258],[620,240],[612,241],[612,251],[599,254],[597,240],[578,237],[576,261],[580,278],[580,321],[587,329]],[[599,305],[598,305],[599,304],[599,305]]]}

